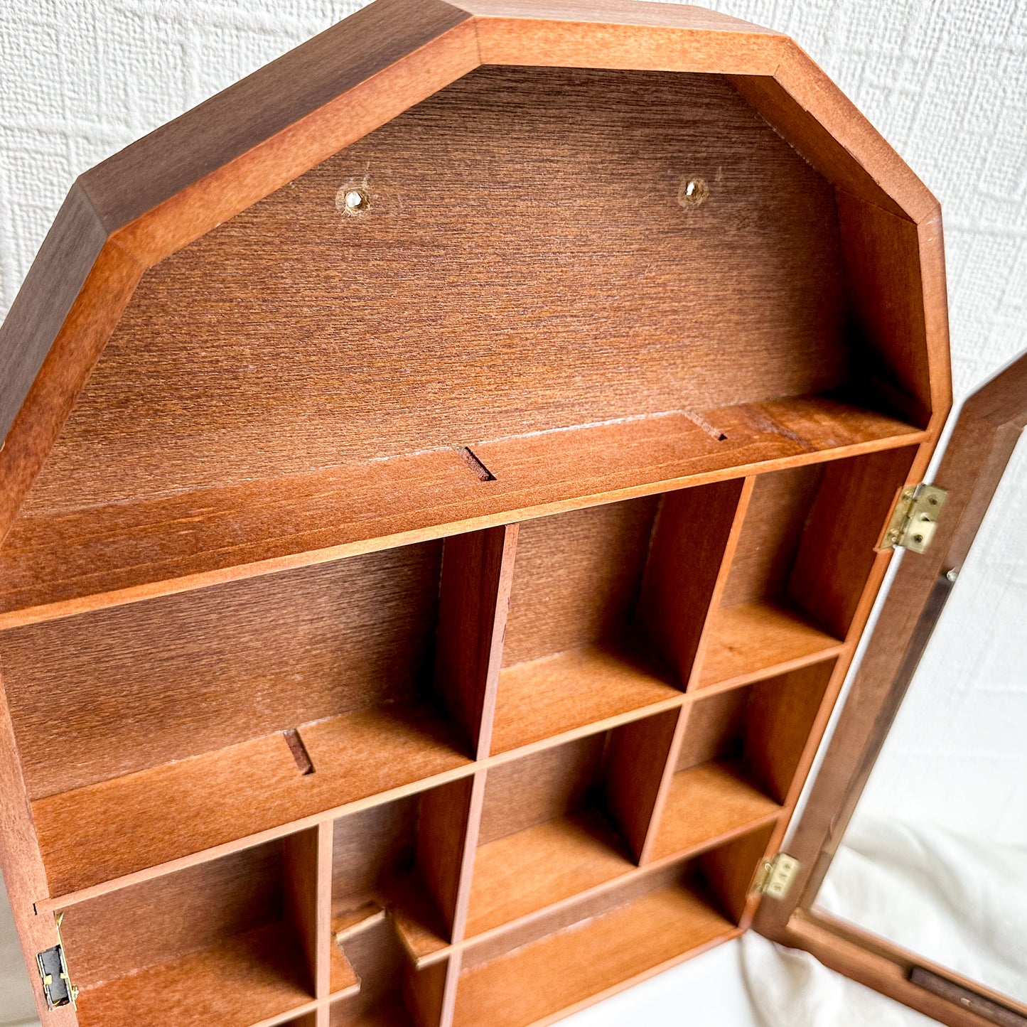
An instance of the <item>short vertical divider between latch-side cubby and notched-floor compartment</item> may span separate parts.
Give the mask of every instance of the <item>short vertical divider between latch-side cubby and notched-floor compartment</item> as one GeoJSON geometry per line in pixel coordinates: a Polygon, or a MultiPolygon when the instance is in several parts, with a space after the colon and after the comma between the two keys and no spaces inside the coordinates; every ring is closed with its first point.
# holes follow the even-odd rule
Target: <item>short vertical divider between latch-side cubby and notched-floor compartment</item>
{"type": "Polygon", "coordinates": [[[282,839],[288,915],[303,946],[316,998],[331,993],[332,822],[282,839]]]}

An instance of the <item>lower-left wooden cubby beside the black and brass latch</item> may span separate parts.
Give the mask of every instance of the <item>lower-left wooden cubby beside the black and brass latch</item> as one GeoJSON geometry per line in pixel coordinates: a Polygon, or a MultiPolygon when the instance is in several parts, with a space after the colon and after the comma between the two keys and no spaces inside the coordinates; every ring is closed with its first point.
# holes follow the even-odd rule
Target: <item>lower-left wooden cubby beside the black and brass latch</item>
{"type": "MultiPolygon", "coordinates": [[[[79,1024],[250,1027],[311,1002],[316,832],[65,909],[79,1024]]],[[[334,976],[340,994],[354,988],[334,976]]]]}

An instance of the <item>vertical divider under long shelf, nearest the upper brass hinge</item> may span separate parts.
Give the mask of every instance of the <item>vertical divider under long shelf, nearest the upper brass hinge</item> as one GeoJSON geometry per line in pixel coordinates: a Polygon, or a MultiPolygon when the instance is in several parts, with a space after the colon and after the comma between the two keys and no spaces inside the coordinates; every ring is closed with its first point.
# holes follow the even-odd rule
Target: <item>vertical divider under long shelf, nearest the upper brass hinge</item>
{"type": "Polygon", "coordinates": [[[737,541],[751,479],[663,497],[642,579],[638,621],[680,686],[694,678],[706,627],[737,541]]]}

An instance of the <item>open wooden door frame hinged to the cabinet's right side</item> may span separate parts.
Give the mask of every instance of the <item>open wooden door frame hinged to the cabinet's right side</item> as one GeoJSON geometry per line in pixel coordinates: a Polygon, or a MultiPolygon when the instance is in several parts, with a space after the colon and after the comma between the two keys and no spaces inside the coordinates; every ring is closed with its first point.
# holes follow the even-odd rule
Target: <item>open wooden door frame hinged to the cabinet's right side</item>
{"type": "MultiPolygon", "coordinates": [[[[955,415],[954,415],[955,416],[955,415]]],[[[820,887],[1027,423],[1027,352],[963,404],[934,484],[945,508],[926,551],[898,567],[787,843],[784,893],[754,929],[951,1027],[1027,1025],[1027,1005],[814,908],[820,887]]],[[[767,878],[776,868],[767,867],[767,878]]],[[[779,893],[779,892],[778,892],[779,893]]]]}

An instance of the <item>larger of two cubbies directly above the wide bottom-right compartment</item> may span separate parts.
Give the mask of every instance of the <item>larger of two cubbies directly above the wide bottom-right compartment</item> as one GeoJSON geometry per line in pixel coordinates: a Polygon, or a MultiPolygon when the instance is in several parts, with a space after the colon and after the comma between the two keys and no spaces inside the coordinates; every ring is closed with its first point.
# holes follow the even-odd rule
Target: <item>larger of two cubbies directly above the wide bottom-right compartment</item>
{"type": "Polygon", "coordinates": [[[468,938],[602,888],[635,869],[677,713],[488,771],[468,938]]]}

